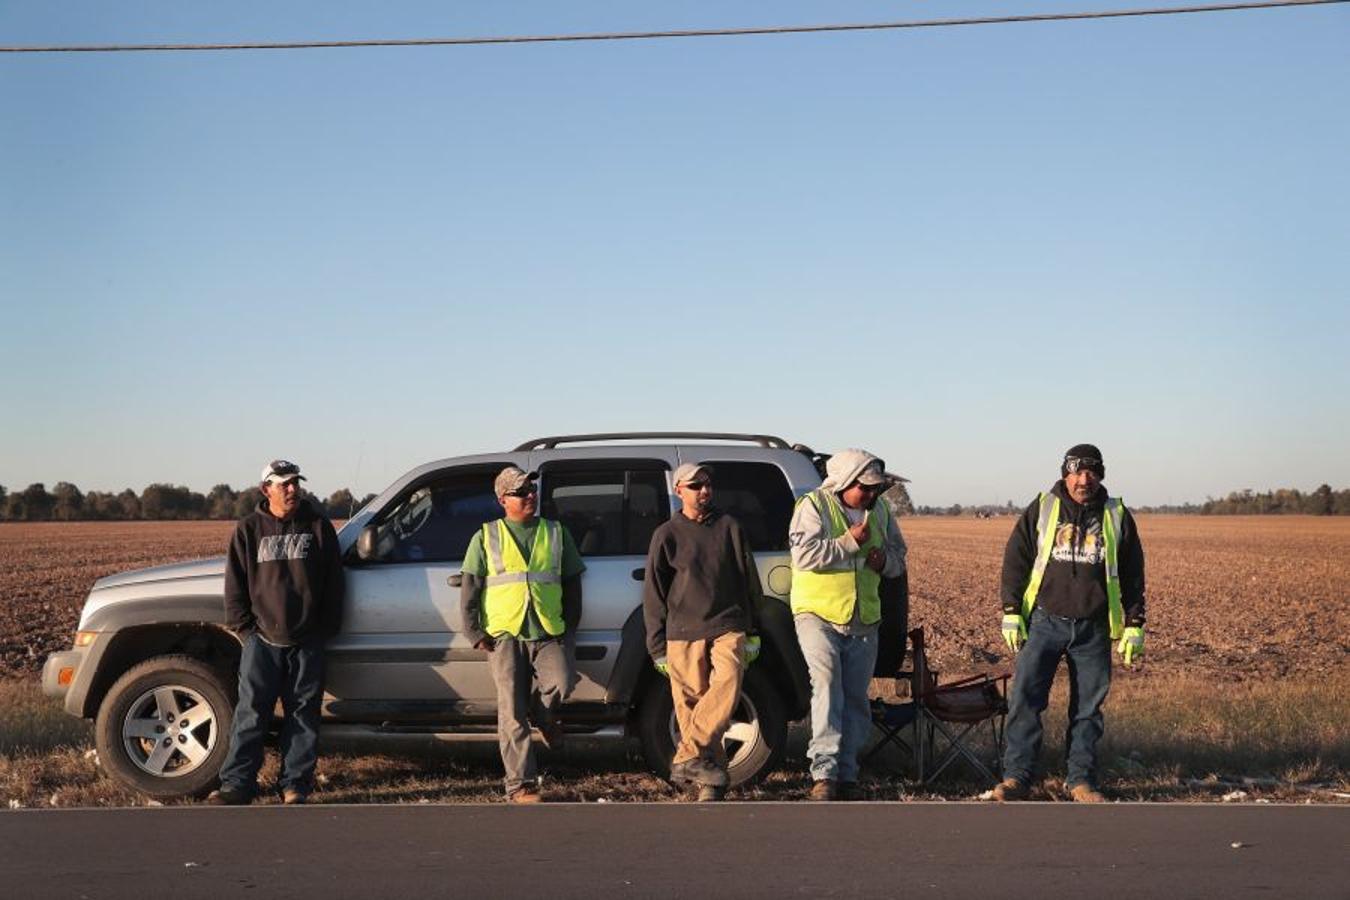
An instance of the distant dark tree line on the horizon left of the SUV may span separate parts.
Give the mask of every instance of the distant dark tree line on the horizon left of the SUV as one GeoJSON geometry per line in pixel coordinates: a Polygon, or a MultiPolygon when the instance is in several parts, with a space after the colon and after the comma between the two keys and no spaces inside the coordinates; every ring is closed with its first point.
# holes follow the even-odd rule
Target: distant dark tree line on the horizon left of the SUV
{"type": "MultiPolygon", "coordinates": [[[[327,501],[308,491],[305,497],[317,503],[329,518],[348,518],[375,495],[367,494],[356,499],[344,487],[333,491],[327,501]]],[[[130,487],[120,494],[86,494],[70,482],[57,482],[51,491],[36,483],[11,494],[0,484],[0,521],[236,519],[258,509],[261,502],[261,488],[236,491],[228,484],[216,484],[207,494],[181,484],[151,484],[139,494],[130,487]]]]}

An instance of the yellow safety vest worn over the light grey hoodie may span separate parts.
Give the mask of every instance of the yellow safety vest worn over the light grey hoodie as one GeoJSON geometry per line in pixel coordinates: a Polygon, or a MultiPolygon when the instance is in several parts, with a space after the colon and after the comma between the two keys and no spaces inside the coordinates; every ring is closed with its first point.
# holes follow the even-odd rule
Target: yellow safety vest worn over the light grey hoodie
{"type": "MultiPolygon", "coordinates": [[[[830,540],[838,540],[848,530],[848,517],[838,499],[821,490],[802,495],[798,503],[810,502],[821,514],[830,540]]],[[[891,529],[891,507],[878,498],[876,505],[863,519],[871,525],[867,541],[857,553],[844,563],[822,569],[792,569],[791,603],[792,614],[813,613],[826,622],[848,625],[853,621],[853,609],[859,606],[863,625],[882,619],[882,576],[865,564],[868,551],[884,548],[886,536],[891,529]]]]}

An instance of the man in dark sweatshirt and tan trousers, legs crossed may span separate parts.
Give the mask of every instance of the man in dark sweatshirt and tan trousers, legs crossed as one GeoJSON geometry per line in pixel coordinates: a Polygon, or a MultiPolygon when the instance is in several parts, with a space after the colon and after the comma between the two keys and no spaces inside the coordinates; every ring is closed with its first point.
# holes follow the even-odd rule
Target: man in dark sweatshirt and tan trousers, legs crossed
{"type": "Polygon", "coordinates": [[[701,800],[728,785],[722,735],[740,700],[755,636],[759,571],[740,524],[713,506],[713,470],[675,470],[680,514],[660,525],[647,553],[647,649],[670,677],[680,739],[671,781],[697,783],[701,800]]]}

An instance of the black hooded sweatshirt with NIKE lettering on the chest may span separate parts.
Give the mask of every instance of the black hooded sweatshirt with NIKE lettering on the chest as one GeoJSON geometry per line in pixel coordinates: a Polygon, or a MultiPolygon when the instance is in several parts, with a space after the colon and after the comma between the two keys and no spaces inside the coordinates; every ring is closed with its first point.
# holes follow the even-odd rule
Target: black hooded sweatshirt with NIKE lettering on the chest
{"type": "Polygon", "coordinates": [[[271,644],[332,637],[342,623],[338,532],[312,503],[279,519],[267,501],[239,519],[225,555],[225,626],[271,644]]]}

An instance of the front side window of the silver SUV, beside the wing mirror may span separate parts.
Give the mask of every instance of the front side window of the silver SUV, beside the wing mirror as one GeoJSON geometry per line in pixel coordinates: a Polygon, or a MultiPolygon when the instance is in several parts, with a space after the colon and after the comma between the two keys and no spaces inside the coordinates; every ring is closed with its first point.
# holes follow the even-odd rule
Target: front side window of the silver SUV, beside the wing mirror
{"type": "Polygon", "coordinates": [[[459,563],[483,522],[500,518],[493,495],[501,466],[455,470],[414,486],[375,524],[381,563],[459,563]]]}

